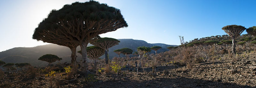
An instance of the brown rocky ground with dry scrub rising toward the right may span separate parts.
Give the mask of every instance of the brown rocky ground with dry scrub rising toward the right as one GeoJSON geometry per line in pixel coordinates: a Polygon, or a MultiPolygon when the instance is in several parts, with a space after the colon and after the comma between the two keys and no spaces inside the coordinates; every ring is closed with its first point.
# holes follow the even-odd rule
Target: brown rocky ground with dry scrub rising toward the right
{"type": "Polygon", "coordinates": [[[67,75],[58,72],[54,77],[39,74],[26,78],[21,73],[4,73],[0,87],[12,88],[256,88],[256,54],[244,53],[234,58],[220,58],[195,64],[192,68],[176,64],[164,64],[139,70],[123,68],[116,75],[99,74],[63,80],[67,75]]]}

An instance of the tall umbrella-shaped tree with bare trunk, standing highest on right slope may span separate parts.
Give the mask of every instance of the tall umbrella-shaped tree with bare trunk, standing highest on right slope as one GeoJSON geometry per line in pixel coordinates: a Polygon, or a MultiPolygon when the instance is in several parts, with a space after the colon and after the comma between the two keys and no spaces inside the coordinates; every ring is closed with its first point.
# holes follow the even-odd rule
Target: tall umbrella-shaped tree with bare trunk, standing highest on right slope
{"type": "Polygon", "coordinates": [[[246,28],[240,25],[227,25],[222,28],[232,38],[232,53],[236,54],[236,37],[240,36],[246,28]]]}

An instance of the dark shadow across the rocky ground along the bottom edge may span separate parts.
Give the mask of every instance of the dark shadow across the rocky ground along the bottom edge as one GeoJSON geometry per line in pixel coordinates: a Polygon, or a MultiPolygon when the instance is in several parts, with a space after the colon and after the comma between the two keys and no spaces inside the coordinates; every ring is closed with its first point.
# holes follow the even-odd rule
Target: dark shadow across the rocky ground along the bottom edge
{"type": "Polygon", "coordinates": [[[119,79],[92,83],[92,88],[255,88],[248,85],[214,82],[209,80],[177,78],[155,78],[154,80],[119,79]]]}

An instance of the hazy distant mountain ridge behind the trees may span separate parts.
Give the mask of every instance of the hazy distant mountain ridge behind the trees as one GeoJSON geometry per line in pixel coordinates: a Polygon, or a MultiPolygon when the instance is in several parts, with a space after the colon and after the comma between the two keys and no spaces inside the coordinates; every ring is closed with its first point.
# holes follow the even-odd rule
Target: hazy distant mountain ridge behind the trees
{"type": "MultiPolygon", "coordinates": [[[[137,47],[146,46],[161,46],[162,49],[158,50],[157,52],[164,52],[168,51],[166,47],[169,46],[177,46],[177,45],[167,45],[167,44],[149,44],[143,40],[133,40],[133,39],[118,39],[120,43],[116,46],[113,46],[109,49],[108,54],[109,58],[118,57],[118,55],[113,52],[114,50],[121,49],[121,48],[130,48],[133,50],[133,53],[137,51],[137,47]]],[[[88,44],[88,46],[93,46],[92,44],[88,44]]],[[[80,46],[78,46],[77,51],[80,51],[80,46]]],[[[150,53],[155,53],[155,51],[151,51],[150,53]]],[[[36,47],[17,47],[12,48],[6,51],[0,52],[0,60],[4,61],[5,63],[30,63],[34,66],[46,66],[48,63],[38,60],[39,57],[45,54],[54,54],[58,57],[62,58],[60,62],[71,62],[71,51],[68,47],[60,46],[57,44],[47,44],[47,45],[40,45],[36,47]]],[[[77,61],[80,61],[82,56],[79,53],[76,53],[77,61]]],[[[124,57],[124,55],[120,55],[120,57],[124,57]]],[[[105,58],[105,56],[101,56],[100,58],[105,58]]],[[[56,62],[55,62],[56,63],[56,62]]]]}

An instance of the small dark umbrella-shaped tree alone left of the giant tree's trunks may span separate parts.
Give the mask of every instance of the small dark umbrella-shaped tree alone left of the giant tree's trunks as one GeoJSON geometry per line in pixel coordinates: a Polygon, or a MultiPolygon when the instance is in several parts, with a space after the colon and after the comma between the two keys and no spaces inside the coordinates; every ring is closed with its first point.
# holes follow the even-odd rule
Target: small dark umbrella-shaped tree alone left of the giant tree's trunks
{"type": "Polygon", "coordinates": [[[57,60],[58,61],[62,60],[62,58],[59,58],[58,56],[52,55],[52,54],[45,54],[42,57],[38,58],[38,60],[46,61],[49,63],[48,65],[50,65],[51,63],[53,63],[57,60]]]}

